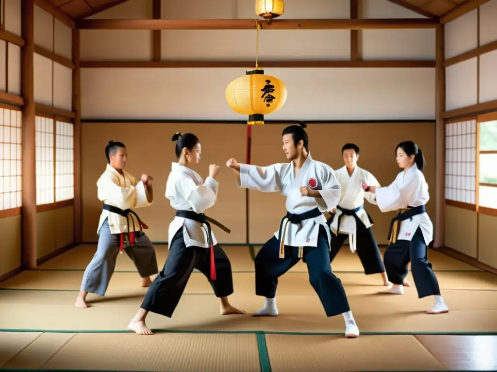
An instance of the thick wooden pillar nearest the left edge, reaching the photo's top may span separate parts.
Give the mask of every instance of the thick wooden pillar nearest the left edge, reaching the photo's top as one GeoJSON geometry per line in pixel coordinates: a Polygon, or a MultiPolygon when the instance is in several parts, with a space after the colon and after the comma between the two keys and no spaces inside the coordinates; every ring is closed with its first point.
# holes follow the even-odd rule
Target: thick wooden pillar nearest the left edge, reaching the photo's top
{"type": "Polygon", "coordinates": [[[34,1],[21,1],[22,251],[23,269],[36,268],[36,120],[34,105],[34,1]]]}

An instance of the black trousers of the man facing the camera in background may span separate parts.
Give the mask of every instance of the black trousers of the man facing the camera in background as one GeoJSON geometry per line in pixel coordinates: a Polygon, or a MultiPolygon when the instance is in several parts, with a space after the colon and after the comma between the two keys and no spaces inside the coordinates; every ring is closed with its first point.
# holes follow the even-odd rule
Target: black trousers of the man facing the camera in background
{"type": "MultiPolygon", "coordinates": [[[[364,268],[364,274],[370,275],[385,272],[380,248],[378,248],[371,228],[366,229],[364,225],[361,228],[359,225],[356,229],[355,247],[359,260],[364,268]]],[[[335,235],[331,232],[330,262],[333,262],[333,259],[336,257],[347,238],[348,234],[335,235]]]]}

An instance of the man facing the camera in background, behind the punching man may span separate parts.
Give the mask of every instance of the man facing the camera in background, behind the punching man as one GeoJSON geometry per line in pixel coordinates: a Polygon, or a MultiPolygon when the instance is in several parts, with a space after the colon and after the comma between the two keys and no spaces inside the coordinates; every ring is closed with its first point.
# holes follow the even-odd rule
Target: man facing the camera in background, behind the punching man
{"type": "Polygon", "coordinates": [[[346,143],[342,147],[342,157],[345,165],[335,171],[340,183],[340,201],[335,210],[332,210],[328,224],[331,229],[330,261],[333,262],[340,251],[343,242],[348,238],[350,250],[355,252],[364,268],[366,275],[381,274],[383,284],[390,287],[380,249],[371,231],[373,220],[364,209],[364,199],[376,204],[374,194],[365,192],[361,184],[380,186],[376,178],[365,169],[357,166],[359,147],[353,143],[346,143]]]}

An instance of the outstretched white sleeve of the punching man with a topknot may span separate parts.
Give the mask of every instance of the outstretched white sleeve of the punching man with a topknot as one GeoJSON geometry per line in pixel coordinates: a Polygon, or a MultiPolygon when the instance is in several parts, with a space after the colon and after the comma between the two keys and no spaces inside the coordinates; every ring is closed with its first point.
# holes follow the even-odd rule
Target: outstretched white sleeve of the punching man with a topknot
{"type": "Polygon", "coordinates": [[[283,164],[267,167],[240,164],[240,183],[238,186],[263,192],[281,191],[280,171],[283,164]]]}

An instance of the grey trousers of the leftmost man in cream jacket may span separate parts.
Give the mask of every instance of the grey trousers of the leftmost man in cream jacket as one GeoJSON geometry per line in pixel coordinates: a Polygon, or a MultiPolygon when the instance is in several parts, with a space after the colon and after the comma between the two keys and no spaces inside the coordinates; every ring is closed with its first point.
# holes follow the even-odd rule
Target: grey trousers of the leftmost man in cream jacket
{"type": "MultiPolygon", "coordinates": [[[[109,224],[105,220],[100,228],[96,252],[84,270],[82,291],[105,295],[116,267],[120,239],[120,234],[110,233],[109,224]]],[[[125,242],[124,250],[135,263],[140,277],[146,278],[159,272],[154,246],[144,233],[137,231],[135,245],[131,247],[125,242]]]]}

